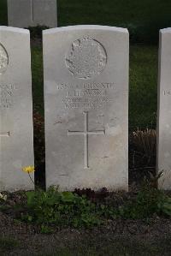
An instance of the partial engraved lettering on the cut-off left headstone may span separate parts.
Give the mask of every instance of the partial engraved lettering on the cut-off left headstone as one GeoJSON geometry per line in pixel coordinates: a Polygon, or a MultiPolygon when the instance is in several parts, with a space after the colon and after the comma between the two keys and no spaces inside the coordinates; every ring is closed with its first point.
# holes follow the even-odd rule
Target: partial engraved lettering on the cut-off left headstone
{"type": "Polygon", "coordinates": [[[15,85],[0,84],[0,109],[9,109],[14,105],[14,95],[17,90],[15,85]]]}

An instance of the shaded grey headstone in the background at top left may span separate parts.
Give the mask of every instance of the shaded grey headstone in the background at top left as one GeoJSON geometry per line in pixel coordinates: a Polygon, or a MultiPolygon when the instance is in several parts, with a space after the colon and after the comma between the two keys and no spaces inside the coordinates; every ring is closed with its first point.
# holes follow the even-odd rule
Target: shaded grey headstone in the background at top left
{"type": "Polygon", "coordinates": [[[56,0],[8,0],[9,26],[57,27],[56,0]]]}

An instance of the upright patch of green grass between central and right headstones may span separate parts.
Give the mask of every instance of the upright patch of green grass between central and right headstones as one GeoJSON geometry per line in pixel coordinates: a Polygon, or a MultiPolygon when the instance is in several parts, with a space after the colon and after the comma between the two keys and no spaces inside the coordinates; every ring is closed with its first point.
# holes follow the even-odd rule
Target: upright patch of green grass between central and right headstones
{"type": "Polygon", "coordinates": [[[157,106],[157,47],[130,49],[129,127],[155,128],[157,106]]]}

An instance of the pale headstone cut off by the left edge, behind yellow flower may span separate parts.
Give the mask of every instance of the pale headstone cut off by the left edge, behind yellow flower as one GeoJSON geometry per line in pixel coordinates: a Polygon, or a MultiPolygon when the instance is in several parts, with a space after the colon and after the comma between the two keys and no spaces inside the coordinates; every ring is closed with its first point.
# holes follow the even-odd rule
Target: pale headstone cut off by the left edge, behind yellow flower
{"type": "Polygon", "coordinates": [[[31,86],[29,32],[0,27],[0,191],[34,187],[31,86]]]}

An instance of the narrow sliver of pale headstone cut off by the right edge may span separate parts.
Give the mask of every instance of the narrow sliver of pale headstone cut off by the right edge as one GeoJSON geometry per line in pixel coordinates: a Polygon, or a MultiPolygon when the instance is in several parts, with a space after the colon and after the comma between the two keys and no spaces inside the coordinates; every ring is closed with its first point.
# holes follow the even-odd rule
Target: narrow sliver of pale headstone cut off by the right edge
{"type": "Polygon", "coordinates": [[[157,170],[159,188],[171,189],[171,28],[160,31],[157,170]]]}

